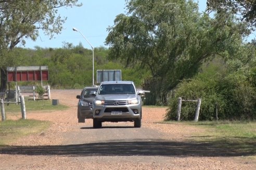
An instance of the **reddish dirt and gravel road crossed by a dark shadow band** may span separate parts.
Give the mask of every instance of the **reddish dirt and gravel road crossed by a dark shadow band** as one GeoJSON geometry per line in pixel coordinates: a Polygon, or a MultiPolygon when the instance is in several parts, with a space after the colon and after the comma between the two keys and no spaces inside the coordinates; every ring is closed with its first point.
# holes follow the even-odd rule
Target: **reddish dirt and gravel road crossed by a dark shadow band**
{"type": "Polygon", "coordinates": [[[75,96],[80,90],[51,92],[70,108],[27,111],[28,119],[54,123],[45,132],[0,149],[0,169],[256,169],[247,153],[191,140],[203,130],[157,123],[165,108],[143,107],[141,128],[132,122],[104,122],[102,129],[93,129],[92,120],[77,123],[75,96]]]}

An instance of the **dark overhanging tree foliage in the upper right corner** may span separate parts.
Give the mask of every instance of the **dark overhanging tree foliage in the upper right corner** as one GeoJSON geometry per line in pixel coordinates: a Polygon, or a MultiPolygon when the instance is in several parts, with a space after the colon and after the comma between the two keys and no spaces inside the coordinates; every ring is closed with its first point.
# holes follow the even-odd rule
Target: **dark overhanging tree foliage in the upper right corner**
{"type": "Polygon", "coordinates": [[[207,0],[208,10],[217,13],[228,13],[241,16],[241,20],[256,26],[256,1],[255,0],[207,0]]]}

